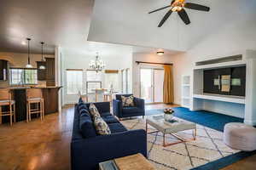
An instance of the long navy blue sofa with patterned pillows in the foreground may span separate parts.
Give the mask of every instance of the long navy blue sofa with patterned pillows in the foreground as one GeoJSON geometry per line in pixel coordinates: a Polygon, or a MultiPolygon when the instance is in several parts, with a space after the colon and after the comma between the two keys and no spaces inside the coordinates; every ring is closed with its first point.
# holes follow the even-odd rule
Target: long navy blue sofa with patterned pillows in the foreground
{"type": "Polygon", "coordinates": [[[73,170],[96,170],[102,161],[142,153],[147,156],[147,133],[143,129],[127,130],[111,113],[109,102],[95,103],[111,130],[109,135],[97,135],[88,108],[75,105],[71,166],[73,170]],[[87,110],[87,111],[86,111],[87,110]]]}

